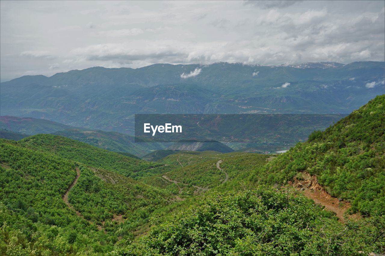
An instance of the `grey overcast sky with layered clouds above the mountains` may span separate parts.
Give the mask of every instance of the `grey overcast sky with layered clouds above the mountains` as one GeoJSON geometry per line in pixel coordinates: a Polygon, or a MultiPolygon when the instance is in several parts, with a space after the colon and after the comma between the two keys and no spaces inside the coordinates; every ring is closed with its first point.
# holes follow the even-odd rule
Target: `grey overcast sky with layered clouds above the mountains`
{"type": "Polygon", "coordinates": [[[1,81],[91,66],[384,61],[385,1],[0,1],[1,81]]]}

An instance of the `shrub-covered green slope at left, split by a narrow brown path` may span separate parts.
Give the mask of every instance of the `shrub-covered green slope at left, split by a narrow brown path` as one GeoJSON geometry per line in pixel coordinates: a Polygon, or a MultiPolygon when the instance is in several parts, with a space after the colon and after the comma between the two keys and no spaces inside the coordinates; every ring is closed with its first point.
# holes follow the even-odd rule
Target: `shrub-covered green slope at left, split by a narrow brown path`
{"type": "Polygon", "coordinates": [[[15,141],[0,140],[0,156],[0,254],[107,252],[171,203],[166,191],[15,141]],[[68,198],[80,216],[62,200],[76,165],[81,174],[68,198]]]}

